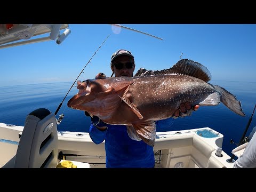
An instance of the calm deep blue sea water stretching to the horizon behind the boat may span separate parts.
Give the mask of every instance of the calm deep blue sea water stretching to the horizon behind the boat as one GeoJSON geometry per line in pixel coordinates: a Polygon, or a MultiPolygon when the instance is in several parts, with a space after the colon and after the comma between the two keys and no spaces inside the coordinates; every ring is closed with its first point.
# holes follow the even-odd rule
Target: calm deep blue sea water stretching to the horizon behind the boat
{"type": "MultiPolygon", "coordinates": [[[[171,130],[157,131],[210,127],[224,135],[222,149],[231,156],[231,150],[236,145],[230,144],[229,141],[233,139],[238,143],[242,137],[256,103],[256,83],[228,81],[211,81],[210,83],[222,86],[236,95],[242,103],[246,116],[233,113],[222,103],[218,106],[202,106],[198,111],[193,112],[192,116],[176,119],[171,130]]],[[[72,84],[73,82],[66,82],[0,87],[0,122],[23,126],[26,116],[38,108],[46,108],[55,113],[72,84]]],[[[76,93],[77,89],[73,87],[57,114],[57,118],[62,113],[65,115],[61,124],[58,125],[58,130],[77,132],[89,130],[90,118],[86,117],[83,111],[66,107],[68,100],[76,93]]],[[[252,118],[246,136],[256,126],[255,119],[256,114],[252,118]]]]}

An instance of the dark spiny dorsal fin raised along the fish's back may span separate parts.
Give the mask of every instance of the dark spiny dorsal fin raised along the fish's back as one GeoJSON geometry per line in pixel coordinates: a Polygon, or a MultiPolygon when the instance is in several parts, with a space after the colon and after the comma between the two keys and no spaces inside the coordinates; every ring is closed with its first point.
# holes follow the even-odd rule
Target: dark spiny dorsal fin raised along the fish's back
{"type": "Polygon", "coordinates": [[[170,75],[170,74],[189,75],[189,76],[202,79],[205,82],[210,81],[212,78],[210,71],[205,66],[190,59],[181,59],[170,69],[164,69],[159,71],[140,68],[134,76],[170,75]]]}

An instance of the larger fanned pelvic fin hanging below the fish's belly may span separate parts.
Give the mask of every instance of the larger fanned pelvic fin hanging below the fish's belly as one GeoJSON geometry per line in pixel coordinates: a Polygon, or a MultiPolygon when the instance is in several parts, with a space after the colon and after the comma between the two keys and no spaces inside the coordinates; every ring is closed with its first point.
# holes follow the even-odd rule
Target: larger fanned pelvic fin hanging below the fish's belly
{"type": "Polygon", "coordinates": [[[156,124],[154,121],[132,124],[136,133],[145,143],[154,147],[156,141],[156,124]]]}

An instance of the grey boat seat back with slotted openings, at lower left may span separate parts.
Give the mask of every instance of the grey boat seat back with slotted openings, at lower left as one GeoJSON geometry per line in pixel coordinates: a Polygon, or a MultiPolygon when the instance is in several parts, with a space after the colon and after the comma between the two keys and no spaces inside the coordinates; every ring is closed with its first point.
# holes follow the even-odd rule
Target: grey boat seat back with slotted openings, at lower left
{"type": "MultiPolygon", "coordinates": [[[[57,122],[55,115],[48,109],[39,108],[32,111],[27,116],[25,126],[22,133],[19,133],[19,137],[20,141],[16,155],[3,168],[57,167],[57,122]]],[[[84,164],[87,165],[87,163],[84,164]]]]}

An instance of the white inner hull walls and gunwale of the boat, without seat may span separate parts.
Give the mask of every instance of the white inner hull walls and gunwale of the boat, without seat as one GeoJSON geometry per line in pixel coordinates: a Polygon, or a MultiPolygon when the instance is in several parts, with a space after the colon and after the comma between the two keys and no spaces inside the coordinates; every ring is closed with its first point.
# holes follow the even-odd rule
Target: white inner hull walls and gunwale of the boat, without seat
{"type": "MultiPolygon", "coordinates": [[[[6,164],[15,154],[19,144],[19,133],[23,126],[8,126],[0,123],[0,166],[6,164]]],[[[224,151],[215,155],[222,147],[223,135],[203,127],[201,129],[157,132],[155,142],[155,167],[172,168],[215,168],[233,167],[224,151]],[[200,136],[199,131],[209,131],[214,138],[200,136]]],[[[89,163],[91,167],[106,167],[105,142],[96,145],[89,133],[58,131],[58,154],[66,160],[89,163]],[[63,154],[63,156],[61,156],[63,154]]]]}

